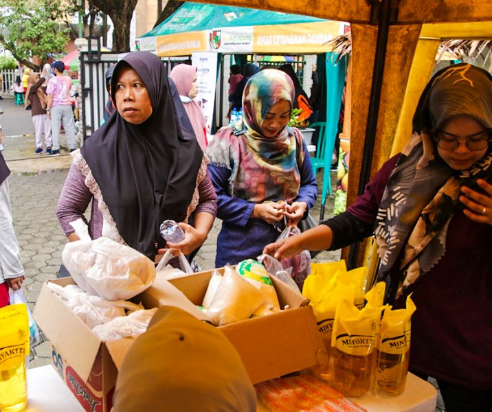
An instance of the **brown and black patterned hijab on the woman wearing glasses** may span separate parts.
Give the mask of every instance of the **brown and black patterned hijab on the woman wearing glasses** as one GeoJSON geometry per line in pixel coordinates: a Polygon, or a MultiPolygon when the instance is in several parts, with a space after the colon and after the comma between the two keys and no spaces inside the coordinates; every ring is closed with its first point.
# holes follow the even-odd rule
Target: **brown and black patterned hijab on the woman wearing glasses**
{"type": "Polygon", "coordinates": [[[491,144],[469,170],[452,170],[438,156],[432,134],[460,115],[492,132],[492,78],[469,64],[447,67],[427,84],[414,116],[414,134],[385,188],[374,233],[381,257],[378,277],[391,285],[390,297],[444,255],[449,220],[462,209],[460,187],[487,179],[492,171],[491,144]],[[390,271],[400,256],[402,274],[396,284],[390,271]]]}

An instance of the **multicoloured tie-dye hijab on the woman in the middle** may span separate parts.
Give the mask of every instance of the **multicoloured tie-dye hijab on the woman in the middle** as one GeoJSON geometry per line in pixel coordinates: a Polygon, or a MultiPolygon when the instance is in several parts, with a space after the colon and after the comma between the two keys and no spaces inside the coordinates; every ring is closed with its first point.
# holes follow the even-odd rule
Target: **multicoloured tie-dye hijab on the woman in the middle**
{"type": "Polygon", "coordinates": [[[284,72],[265,69],[249,78],[243,92],[245,133],[234,135],[223,128],[208,146],[212,165],[231,170],[230,196],[251,202],[293,201],[300,188],[304,146],[299,130],[283,128],[276,137],[265,137],[261,127],[269,109],[280,100],[291,103],[292,80],[284,72]]]}

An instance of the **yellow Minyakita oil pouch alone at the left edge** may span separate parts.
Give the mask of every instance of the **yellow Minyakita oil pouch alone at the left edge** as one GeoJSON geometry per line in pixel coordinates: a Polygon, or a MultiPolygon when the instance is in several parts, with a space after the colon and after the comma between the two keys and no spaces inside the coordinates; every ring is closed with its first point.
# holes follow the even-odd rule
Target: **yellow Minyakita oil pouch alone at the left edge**
{"type": "Polygon", "coordinates": [[[0,411],[19,412],[27,405],[29,336],[25,304],[0,309],[0,411]]]}

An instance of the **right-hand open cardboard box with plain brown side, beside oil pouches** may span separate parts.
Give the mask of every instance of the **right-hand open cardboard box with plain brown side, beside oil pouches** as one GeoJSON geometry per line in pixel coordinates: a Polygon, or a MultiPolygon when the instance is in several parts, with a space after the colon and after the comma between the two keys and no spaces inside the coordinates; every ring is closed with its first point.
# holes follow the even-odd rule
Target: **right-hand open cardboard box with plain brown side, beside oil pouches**
{"type": "MultiPolygon", "coordinates": [[[[218,269],[223,273],[223,268],[218,269]]],[[[214,271],[204,271],[169,281],[195,305],[201,305],[214,271]]],[[[278,378],[326,361],[326,351],[317,330],[313,309],[300,293],[272,277],[280,308],[266,317],[220,326],[238,351],[253,383],[278,378]]],[[[146,307],[165,306],[168,282],[157,278],[139,295],[146,307]]],[[[199,319],[206,319],[203,314],[199,319]]]]}

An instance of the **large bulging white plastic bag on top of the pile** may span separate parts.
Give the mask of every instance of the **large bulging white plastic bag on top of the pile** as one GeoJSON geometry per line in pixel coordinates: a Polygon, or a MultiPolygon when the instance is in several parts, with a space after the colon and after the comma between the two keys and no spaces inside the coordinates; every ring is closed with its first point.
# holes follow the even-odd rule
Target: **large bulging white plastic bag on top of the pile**
{"type": "Polygon", "coordinates": [[[155,279],[152,260],[108,238],[90,240],[87,225],[81,219],[71,225],[80,240],[65,245],[63,264],[76,284],[89,295],[109,301],[126,300],[152,284],[155,279]]]}

